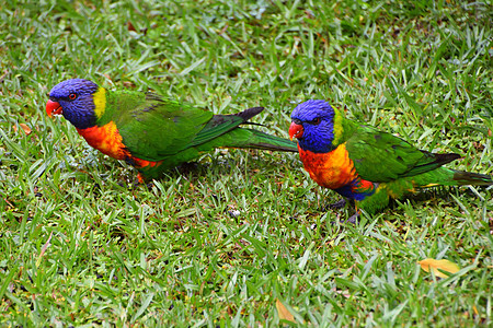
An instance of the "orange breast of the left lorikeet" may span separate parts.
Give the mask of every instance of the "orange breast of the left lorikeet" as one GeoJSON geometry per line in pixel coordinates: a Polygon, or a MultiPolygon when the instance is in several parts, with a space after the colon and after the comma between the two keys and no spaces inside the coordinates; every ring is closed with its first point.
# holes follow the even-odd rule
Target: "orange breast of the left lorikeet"
{"type": "Polygon", "coordinates": [[[91,147],[103,154],[116,160],[126,160],[130,156],[125,144],[122,143],[122,136],[119,136],[118,129],[113,121],[102,127],[95,126],[87,129],[77,129],[77,131],[84,137],[91,147]]]}

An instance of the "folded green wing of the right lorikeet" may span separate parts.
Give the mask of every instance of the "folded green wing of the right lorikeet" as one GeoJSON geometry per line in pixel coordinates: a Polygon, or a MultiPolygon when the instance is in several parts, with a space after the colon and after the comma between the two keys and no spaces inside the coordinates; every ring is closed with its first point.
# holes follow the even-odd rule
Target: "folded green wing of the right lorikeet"
{"type": "Polygon", "coordinates": [[[387,183],[401,177],[433,171],[458,157],[434,154],[369,126],[359,126],[346,141],[346,150],[358,175],[372,183],[387,183]]]}

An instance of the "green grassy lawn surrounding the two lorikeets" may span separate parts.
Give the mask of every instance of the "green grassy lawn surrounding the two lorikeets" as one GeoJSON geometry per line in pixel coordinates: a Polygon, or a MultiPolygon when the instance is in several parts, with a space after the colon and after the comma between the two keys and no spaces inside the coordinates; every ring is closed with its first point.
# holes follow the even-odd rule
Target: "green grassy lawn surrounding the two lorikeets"
{"type": "Polygon", "coordinates": [[[493,325],[491,188],[333,224],[353,209],[326,210],[340,197],[297,154],[217,150],[146,188],[44,109],[85,78],[261,105],[254,121],[287,137],[296,104],[325,98],[493,174],[491,1],[156,2],[0,5],[1,326],[493,325]]]}

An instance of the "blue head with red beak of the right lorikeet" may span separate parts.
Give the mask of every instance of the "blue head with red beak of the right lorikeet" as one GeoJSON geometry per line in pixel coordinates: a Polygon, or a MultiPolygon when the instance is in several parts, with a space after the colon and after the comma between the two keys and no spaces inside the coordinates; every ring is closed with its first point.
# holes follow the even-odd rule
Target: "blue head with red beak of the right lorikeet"
{"type": "Polygon", "coordinates": [[[336,113],[325,101],[307,101],[291,113],[289,137],[297,138],[302,150],[328,153],[334,149],[336,113]]]}

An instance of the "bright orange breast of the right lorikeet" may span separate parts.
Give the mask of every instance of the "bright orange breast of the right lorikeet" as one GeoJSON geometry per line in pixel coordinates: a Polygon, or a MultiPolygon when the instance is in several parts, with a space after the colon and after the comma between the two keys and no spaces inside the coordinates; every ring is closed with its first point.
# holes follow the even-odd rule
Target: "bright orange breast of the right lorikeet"
{"type": "Polygon", "coordinates": [[[324,154],[303,151],[299,144],[298,149],[305,169],[320,186],[337,189],[357,178],[344,143],[324,154]]]}

